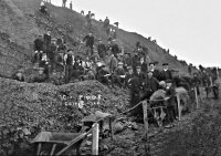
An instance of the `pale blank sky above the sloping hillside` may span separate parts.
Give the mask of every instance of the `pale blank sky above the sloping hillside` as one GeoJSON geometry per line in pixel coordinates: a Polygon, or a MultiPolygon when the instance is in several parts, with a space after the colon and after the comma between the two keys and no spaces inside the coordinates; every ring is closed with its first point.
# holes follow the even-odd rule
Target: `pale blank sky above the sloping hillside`
{"type": "MultiPolygon", "coordinates": [[[[51,0],[61,6],[62,0],[51,0]]],[[[71,0],[67,0],[69,7],[71,0]]],[[[193,65],[221,66],[221,0],[73,0],[77,12],[137,32],[193,65]]]]}

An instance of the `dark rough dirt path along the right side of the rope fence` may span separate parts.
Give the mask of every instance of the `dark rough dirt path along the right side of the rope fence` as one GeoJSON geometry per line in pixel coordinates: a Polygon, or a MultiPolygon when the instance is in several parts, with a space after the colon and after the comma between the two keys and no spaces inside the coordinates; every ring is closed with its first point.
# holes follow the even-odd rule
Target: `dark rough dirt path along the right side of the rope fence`
{"type": "Polygon", "coordinates": [[[149,129],[149,142],[144,138],[144,125],[138,131],[125,129],[115,135],[115,141],[103,141],[114,149],[110,155],[146,155],[149,146],[150,156],[219,156],[221,155],[221,119],[220,101],[203,100],[200,110],[186,114],[181,121],[176,121],[172,128],[149,129]]]}

